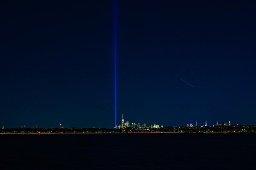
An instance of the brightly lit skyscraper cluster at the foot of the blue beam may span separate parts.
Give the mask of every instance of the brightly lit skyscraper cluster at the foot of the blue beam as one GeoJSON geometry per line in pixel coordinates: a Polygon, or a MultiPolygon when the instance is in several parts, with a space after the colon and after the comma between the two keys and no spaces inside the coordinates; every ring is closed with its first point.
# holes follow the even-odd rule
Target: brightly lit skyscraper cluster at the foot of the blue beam
{"type": "MultiPolygon", "coordinates": [[[[152,128],[160,128],[159,125],[156,125],[156,123],[154,123],[154,125],[151,126],[146,126],[146,124],[144,123],[143,125],[140,125],[140,123],[129,123],[129,121],[124,120],[124,115],[122,114],[122,121],[121,121],[121,125],[116,125],[116,129],[126,129],[128,127],[132,127],[132,128],[136,128],[136,129],[152,129],[152,128]]],[[[163,128],[163,125],[161,125],[161,127],[163,128]]]]}

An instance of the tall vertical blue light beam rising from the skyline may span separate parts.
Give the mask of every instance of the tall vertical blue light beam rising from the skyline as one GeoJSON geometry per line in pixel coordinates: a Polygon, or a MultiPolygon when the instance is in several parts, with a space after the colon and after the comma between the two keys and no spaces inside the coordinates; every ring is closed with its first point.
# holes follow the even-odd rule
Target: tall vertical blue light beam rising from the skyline
{"type": "Polygon", "coordinates": [[[116,127],[116,2],[114,0],[114,67],[115,67],[115,127],[116,127]]]}

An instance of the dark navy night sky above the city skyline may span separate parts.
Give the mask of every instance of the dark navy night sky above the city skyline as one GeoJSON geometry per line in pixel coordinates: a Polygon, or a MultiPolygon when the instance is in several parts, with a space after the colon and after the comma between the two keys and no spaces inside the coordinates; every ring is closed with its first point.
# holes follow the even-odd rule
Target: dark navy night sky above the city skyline
{"type": "MultiPolygon", "coordinates": [[[[1,127],[114,127],[113,7],[0,2],[1,127]]],[[[255,9],[117,0],[117,125],[256,125],[255,9]]]]}

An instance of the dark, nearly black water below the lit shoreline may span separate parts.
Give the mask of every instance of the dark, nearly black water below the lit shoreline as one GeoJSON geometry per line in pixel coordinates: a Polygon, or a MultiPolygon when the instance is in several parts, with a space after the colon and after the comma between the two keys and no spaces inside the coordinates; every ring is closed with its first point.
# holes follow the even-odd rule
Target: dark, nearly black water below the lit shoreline
{"type": "Polygon", "coordinates": [[[0,135],[0,170],[256,168],[256,133],[0,135]]]}

